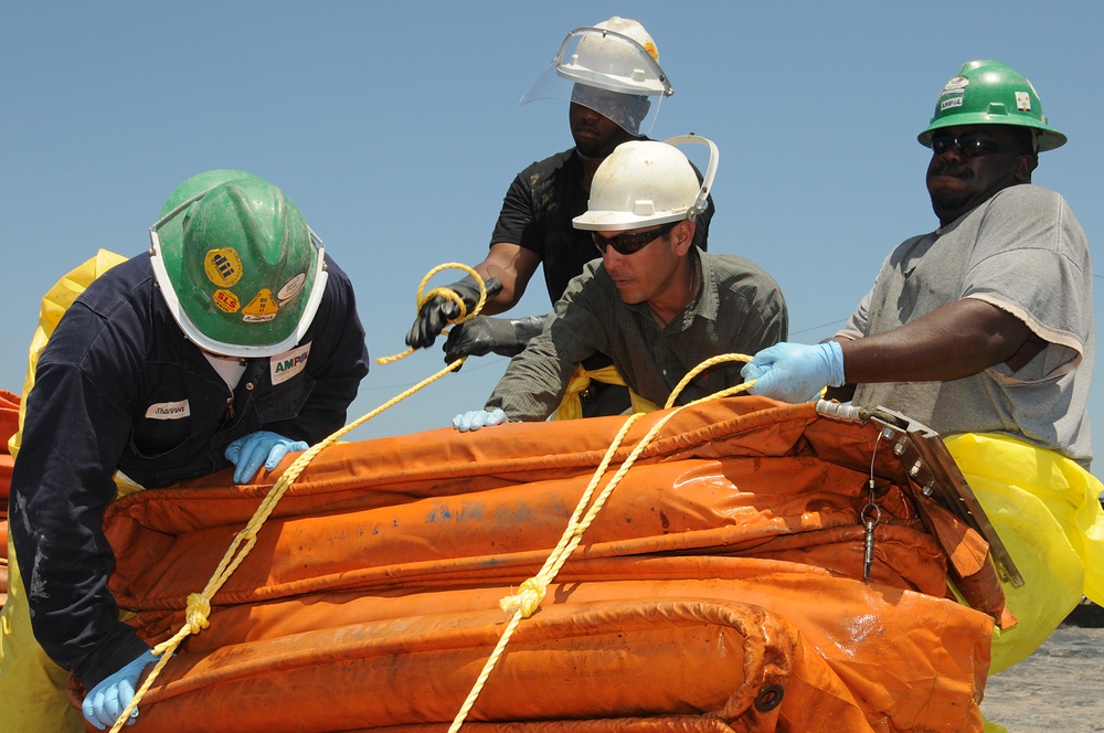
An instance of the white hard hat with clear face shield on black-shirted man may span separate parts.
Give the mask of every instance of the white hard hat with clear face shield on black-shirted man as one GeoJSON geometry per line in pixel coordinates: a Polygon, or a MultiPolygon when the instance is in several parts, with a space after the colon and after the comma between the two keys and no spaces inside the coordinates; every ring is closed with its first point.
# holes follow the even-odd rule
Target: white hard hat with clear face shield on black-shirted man
{"type": "Polygon", "coordinates": [[[637,21],[615,15],[569,33],[521,104],[566,99],[593,109],[630,135],[647,135],[659,103],[672,94],[651,35],[637,21]]]}

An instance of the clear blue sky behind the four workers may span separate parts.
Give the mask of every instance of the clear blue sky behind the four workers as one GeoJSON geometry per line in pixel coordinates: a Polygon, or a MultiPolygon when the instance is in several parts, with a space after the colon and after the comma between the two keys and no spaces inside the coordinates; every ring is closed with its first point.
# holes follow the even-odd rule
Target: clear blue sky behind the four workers
{"type": "MultiPolygon", "coordinates": [[[[513,176],[571,146],[565,106],[522,107],[522,93],[567,31],[613,14],[648,28],[676,89],[652,136],[719,145],[710,251],[778,279],[792,340],[835,332],[889,249],[934,229],[915,136],[973,59],[1034,83],[1070,138],[1034,181],[1065,195],[1094,248],[1104,242],[1095,0],[9,2],[0,387],[22,386],[46,288],[100,247],[141,252],[169,192],[211,168],[280,185],[355,283],[373,358],[403,350],[422,276],[479,262],[513,176]]],[[[514,312],[549,307],[534,281],[514,312]]],[[[444,426],[482,406],[506,363],[469,360],[353,437],[444,426]]],[[[350,418],[442,365],[436,349],[373,365],[350,418]]]]}

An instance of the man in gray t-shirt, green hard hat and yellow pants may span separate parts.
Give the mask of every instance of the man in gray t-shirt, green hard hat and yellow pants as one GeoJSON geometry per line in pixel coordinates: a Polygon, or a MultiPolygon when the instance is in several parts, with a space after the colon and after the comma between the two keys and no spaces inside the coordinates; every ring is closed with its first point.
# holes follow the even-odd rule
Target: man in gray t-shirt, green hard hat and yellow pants
{"type": "Polygon", "coordinates": [[[1066,138],[1017,71],[964,65],[919,139],[938,227],[890,254],[834,339],[768,348],[743,373],[755,394],[840,387],[829,396],[943,434],[1026,581],[1005,584],[1018,623],[995,631],[999,671],[1082,594],[1104,602],[1102,487],[1087,470],[1092,263],[1070,205],[1031,183],[1039,153],[1066,138]]]}

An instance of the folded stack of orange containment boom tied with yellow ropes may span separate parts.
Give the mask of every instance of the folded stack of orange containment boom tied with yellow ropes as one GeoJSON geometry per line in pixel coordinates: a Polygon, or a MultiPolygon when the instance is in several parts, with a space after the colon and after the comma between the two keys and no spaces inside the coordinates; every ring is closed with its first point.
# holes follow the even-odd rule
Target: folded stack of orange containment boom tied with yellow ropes
{"type": "MultiPolygon", "coordinates": [[[[630,428],[614,468],[666,414],[630,428]]],[[[327,448],[135,730],[445,731],[506,625],[498,602],[541,569],[624,422],[327,448]]],[[[682,410],[520,623],[464,726],[980,731],[999,586],[976,574],[986,613],[952,598],[947,540],[881,429],[758,397],[682,410]]],[[[112,591],[150,644],[180,627],[272,484],[230,476],[108,508],[112,591]]],[[[984,552],[974,529],[955,537],[984,552]]]]}

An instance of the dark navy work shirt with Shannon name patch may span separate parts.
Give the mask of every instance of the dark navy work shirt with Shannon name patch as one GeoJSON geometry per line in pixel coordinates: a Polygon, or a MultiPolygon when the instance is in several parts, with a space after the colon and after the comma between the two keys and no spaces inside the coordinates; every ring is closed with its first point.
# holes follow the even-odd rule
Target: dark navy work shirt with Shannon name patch
{"type": "Polygon", "coordinates": [[[148,254],[93,281],[57,323],[26,401],[9,523],[35,638],[86,688],[147,649],[107,589],[116,470],[164,487],[229,466],[226,446],[255,431],[312,444],[346,424],[368,349],[352,285],[326,264],[304,338],[245,360],[233,391],[177,326],[148,254]]]}

